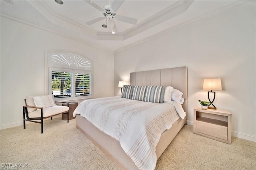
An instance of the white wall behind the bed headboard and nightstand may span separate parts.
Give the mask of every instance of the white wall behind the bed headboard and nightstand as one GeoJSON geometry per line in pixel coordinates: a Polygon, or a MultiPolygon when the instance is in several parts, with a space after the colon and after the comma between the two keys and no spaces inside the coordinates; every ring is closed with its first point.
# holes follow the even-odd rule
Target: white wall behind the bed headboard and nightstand
{"type": "Polygon", "coordinates": [[[204,78],[221,78],[214,105],[232,113],[232,135],[256,141],[255,2],[158,33],[115,53],[115,95],[118,81],[129,73],[188,67],[188,123],[198,100],[208,100],[204,78]]]}

